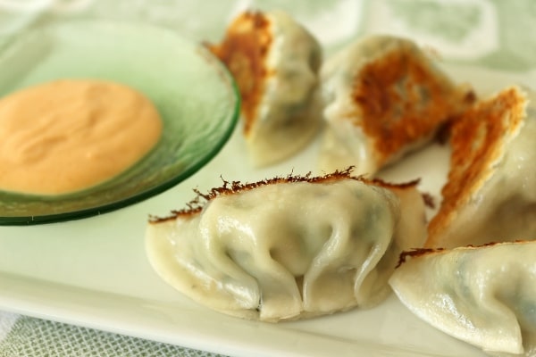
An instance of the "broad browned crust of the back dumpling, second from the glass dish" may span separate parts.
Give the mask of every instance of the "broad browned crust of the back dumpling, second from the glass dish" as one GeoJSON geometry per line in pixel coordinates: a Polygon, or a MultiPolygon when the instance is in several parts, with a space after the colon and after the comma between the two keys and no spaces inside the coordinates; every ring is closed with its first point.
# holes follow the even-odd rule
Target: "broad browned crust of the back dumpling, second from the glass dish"
{"type": "Polygon", "coordinates": [[[438,131],[475,100],[473,90],[455,87],[409,41],[367,62],[353,86],[359,111],[354,124],[373,138],[380,164],[438,131]]]}

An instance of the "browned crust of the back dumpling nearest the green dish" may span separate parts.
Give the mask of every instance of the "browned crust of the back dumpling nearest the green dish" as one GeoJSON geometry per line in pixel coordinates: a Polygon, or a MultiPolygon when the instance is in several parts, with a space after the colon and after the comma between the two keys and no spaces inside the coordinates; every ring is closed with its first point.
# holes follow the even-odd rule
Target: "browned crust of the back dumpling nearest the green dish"
{"type": "Polygon", "coordinates": [[[246,136],[254,125],[266,79],[273,76],[266,66],[272,40],[271,23],[263,12],[243,12],[232,21],[220,45],[208,46],[237,82],[246,136]]]}

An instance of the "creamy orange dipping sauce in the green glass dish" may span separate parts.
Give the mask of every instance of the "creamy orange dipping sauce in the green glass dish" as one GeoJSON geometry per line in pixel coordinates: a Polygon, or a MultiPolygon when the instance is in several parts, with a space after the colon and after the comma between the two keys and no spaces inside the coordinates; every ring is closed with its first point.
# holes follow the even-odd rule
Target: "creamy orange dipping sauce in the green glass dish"
{"type": "Polygon", "coordinates": [[[118,83],[57,80],[0,100],[0,190],[62,195],[129,169],[162,134],[147,97],[118,83]]]}

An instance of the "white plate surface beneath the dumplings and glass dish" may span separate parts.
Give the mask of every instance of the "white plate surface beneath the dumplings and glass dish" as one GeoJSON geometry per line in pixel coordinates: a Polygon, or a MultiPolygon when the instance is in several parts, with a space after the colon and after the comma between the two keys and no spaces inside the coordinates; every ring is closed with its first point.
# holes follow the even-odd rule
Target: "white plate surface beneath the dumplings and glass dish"
{"type": "MultiPolygon", "coordinates": [[[[448,71],[481,93],[529,80],[474,68],[448,71]]],[[[183,208],[193,188],[220,186],[220,177],[246,182],[314,172],[318,144],[288,162],[253,170],[237,128],[212,162],[143,203],[87,220],[0,227],[0,309],[230,356],[484,356],[416,318],[394,295],[371,310],[268,324],[208,310],[155,275],[144,250],[148,214],[183,208]]],[[[448,155],[447,147],[431,145],[383,177],[421,177],[420,188],[439,202],[448,155]]]]}

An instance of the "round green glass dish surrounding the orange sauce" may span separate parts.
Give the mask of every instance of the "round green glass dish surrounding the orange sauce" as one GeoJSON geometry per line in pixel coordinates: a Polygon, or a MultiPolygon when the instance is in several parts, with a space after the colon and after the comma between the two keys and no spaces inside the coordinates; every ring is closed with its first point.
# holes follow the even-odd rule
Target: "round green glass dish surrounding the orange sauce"
{"type": "Polygon", "coordinates": [[[204,46],[169,29],[55,23],[11,38],[0,49],[0,69],[0,97],[54,79],[108,79],[147,95],[163,119],[155,149],[101,185],[57,196],[0,191],[0,225],[80,219],[160,194],[214,158],[239,117],[229,72],[204,46]]]}

